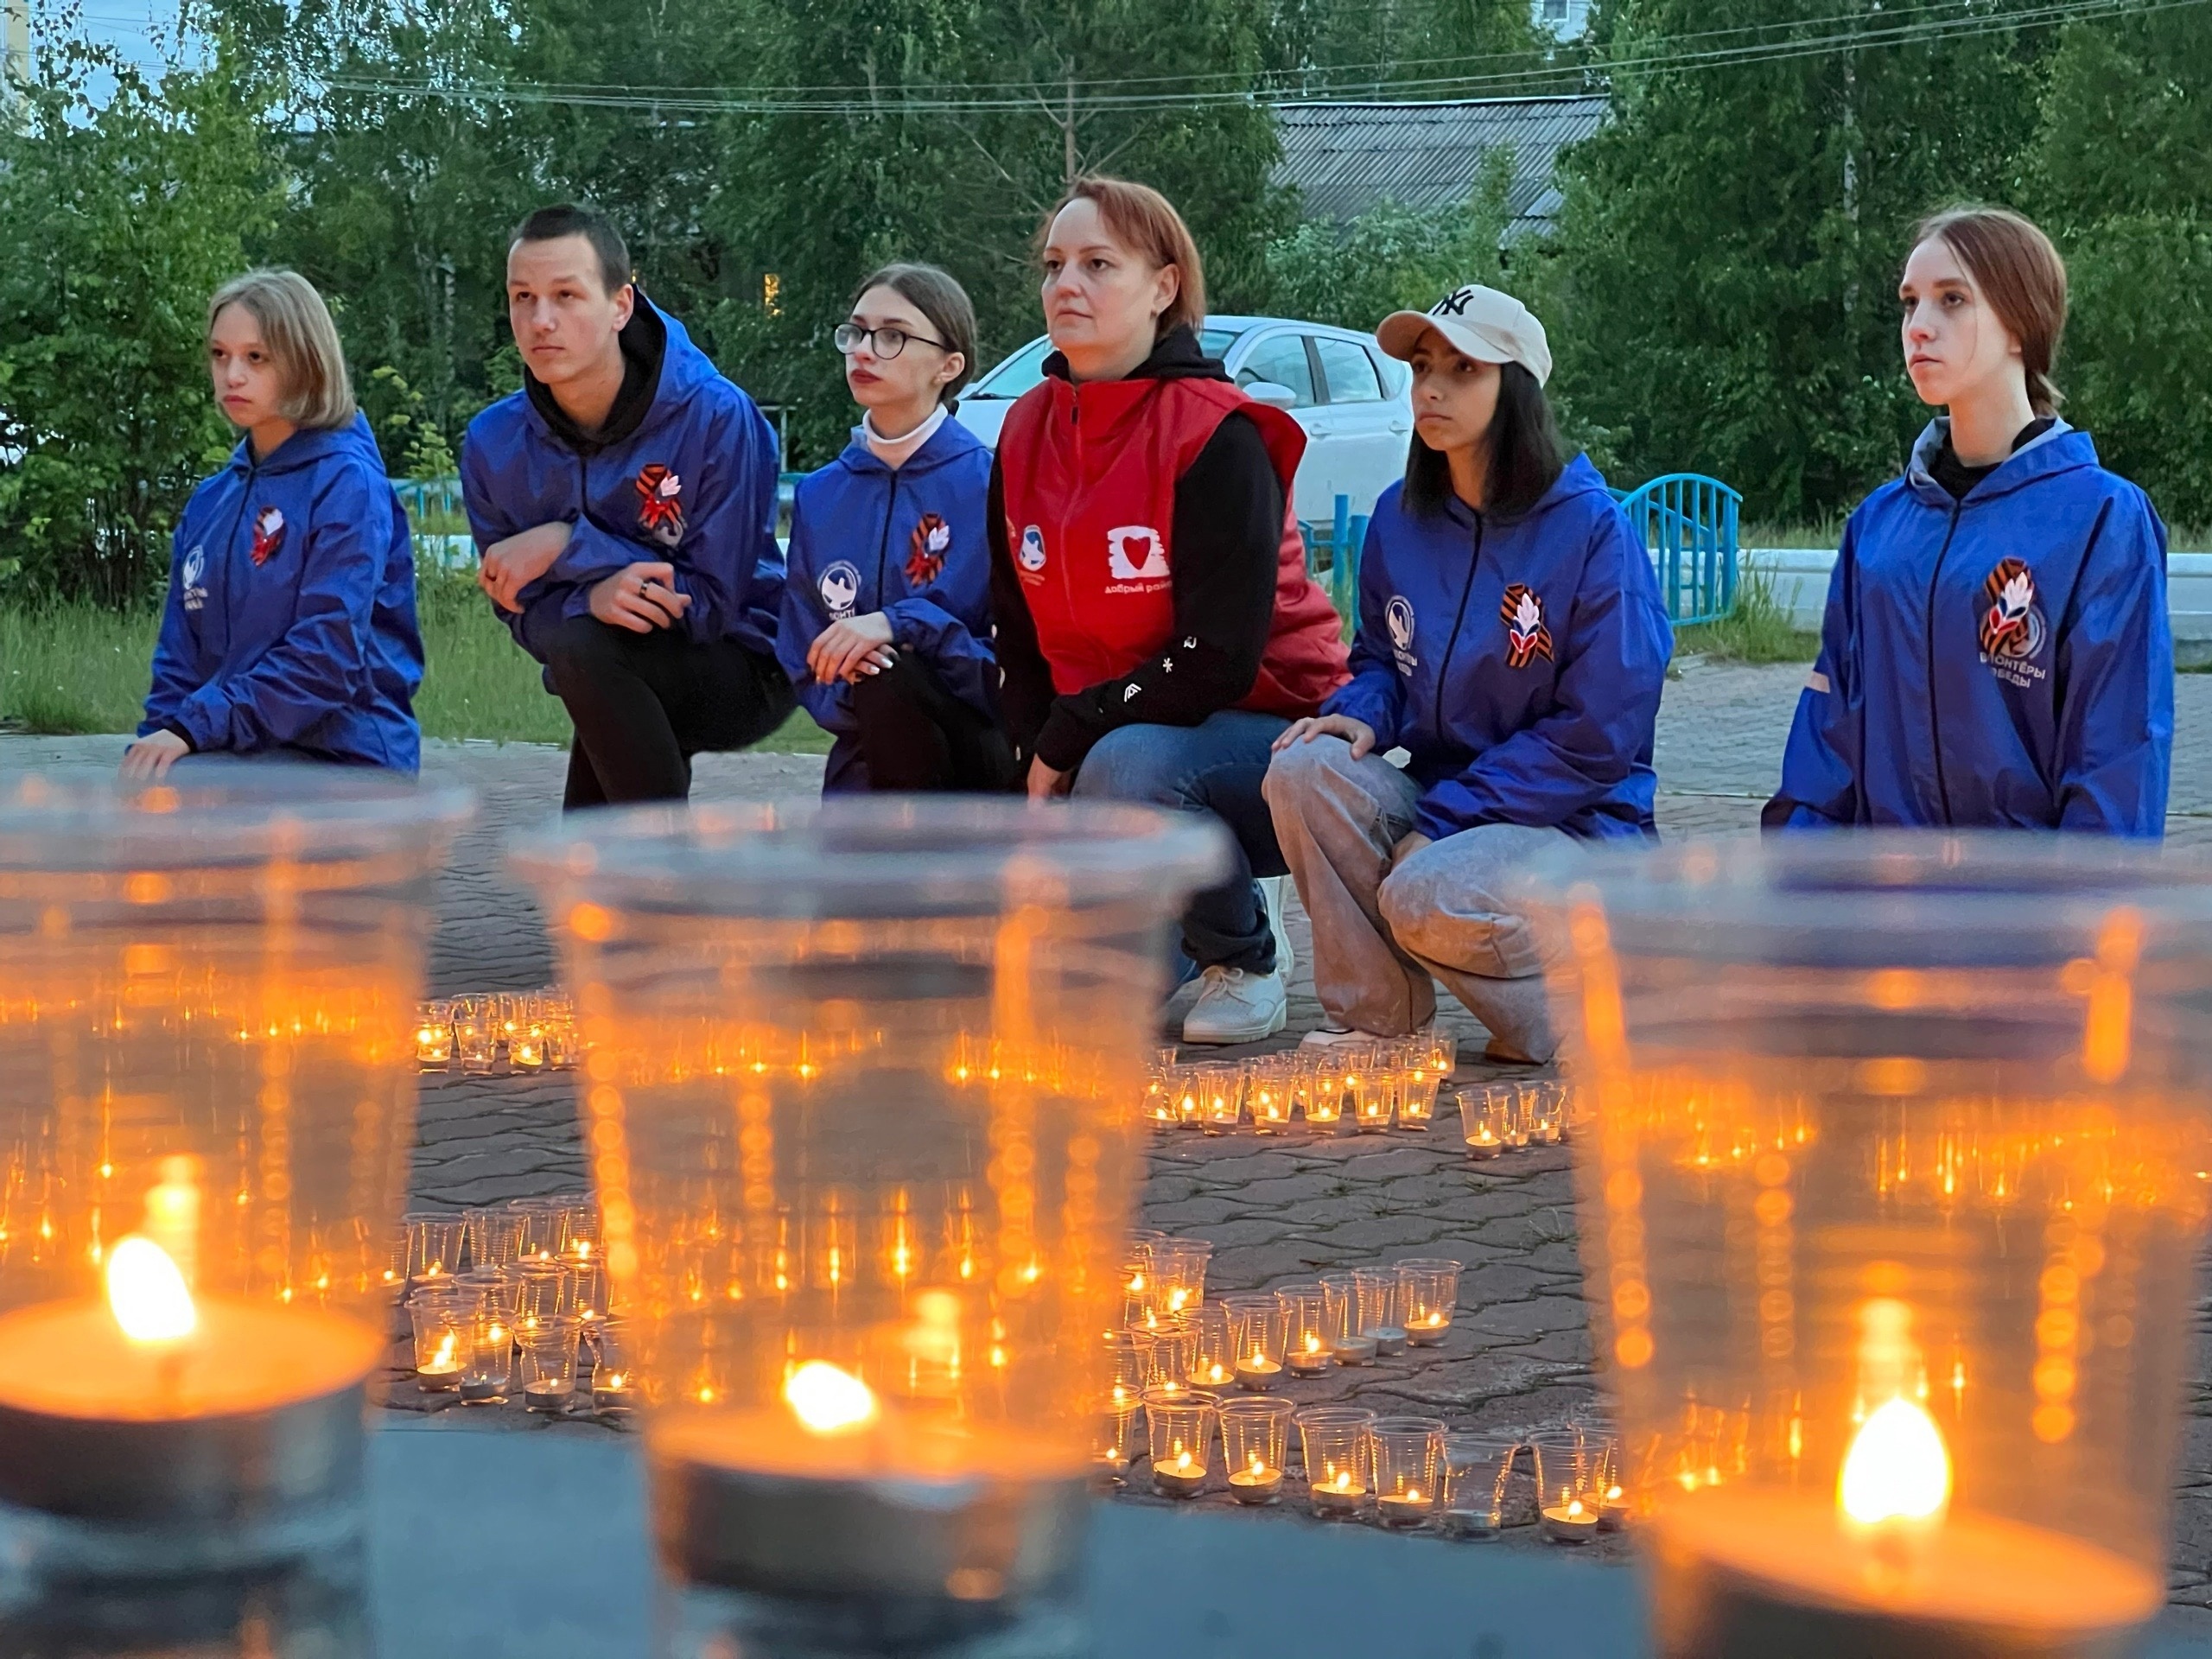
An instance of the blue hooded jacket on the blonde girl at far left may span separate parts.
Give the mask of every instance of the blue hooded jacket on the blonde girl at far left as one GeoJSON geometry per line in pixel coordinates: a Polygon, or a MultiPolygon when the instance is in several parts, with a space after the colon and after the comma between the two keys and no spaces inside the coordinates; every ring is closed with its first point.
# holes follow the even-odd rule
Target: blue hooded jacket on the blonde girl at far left
{"type": "Polygon", "coordinates": [[[177,522],[139,737],[414,772],[414,544],[369,422],[241,440],[177,522]]]}

